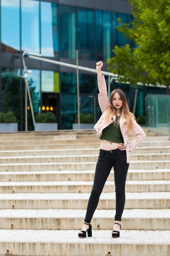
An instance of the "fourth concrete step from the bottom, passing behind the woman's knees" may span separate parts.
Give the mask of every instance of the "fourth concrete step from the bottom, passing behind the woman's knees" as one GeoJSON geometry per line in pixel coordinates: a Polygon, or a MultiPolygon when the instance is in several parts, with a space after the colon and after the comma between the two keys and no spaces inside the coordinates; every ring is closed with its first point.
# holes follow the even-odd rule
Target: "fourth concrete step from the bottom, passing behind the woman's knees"
{"type": "MultiPolygon", "coordinates": [[[[0,193],[90,193],[92,181],[0,182],[0,193]]],[[[103,192],[115,191],[115,182],[106,181],[103,192]]],[[[170,191],[169,180],[127,181],[126,192],[170,191]]]]}

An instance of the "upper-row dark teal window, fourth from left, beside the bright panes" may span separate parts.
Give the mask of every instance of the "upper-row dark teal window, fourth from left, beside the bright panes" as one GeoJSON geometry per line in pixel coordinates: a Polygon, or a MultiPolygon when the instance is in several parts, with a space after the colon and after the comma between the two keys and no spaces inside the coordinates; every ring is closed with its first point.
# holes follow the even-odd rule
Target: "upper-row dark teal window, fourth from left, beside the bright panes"
{"type": "Polygon", "coordinates": [[[60,5],[61,57],[76,58],[76,8],[60,5]]]}

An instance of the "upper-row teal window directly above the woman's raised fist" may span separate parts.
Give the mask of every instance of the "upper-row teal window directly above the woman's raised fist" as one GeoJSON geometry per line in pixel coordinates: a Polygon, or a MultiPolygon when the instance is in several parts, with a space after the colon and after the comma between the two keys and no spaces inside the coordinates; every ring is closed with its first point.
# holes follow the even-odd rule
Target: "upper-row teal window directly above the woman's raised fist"
{"type": "Polygon", "coordinates": [[[111,55],[111,12],[96,11],[97,60],[106,61],[111,55]]]}

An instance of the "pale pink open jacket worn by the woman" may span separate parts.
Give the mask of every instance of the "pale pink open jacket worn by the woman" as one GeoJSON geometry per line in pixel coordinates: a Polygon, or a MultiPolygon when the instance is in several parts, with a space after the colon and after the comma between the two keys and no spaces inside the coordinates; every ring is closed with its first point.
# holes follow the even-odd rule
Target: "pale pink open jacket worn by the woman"
{"type": "MultiPolygon", "coordinates": [[[[97,131],[97,138],[99,138],[102,134],[102,130],[106,128],[109,124],[111,124],[113,121],[115,121],[115,116],[113,116],[113,120],[110,120],[109,123],[103,124],[103,120],[106,115],[106,109],[109,106],[107,87],[106,87],[106,81],[104,76],[97,76],[97,82],[98,82],[98,88],[99,88],[98,101],[99,101],[100,109],[102,111],[102,116],[97,121],[94,128],[97,131]]],[[[141,144],[141,141],[144,139],[144,137],[146,137],[146,134],[144,130],[139,126],[139,124],[137,124],[135,119],[132,117],[132,121],[133,121],[132,131],[136,134],[136,137],[129,144],[127,125],[124,123],[124,121],[125,120],[121,118],[119,122],[119,126],[120,126],[122,137],[124,139],[124,147],[126,147],[126,162],[129,163],[130,152],[132,152],[137,146],[139,146],[139,144],[141,144]]]]}

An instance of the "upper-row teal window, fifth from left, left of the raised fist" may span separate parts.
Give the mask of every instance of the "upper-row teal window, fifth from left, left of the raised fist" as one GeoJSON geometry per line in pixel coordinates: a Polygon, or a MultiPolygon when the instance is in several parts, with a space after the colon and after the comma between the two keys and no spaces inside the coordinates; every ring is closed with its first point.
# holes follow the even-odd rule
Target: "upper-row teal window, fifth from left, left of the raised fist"
{"type": "Polygon", "coordinates": [[[79,58],[95,59],[94,11],[78,9],[78,49],[79,58]]]}

